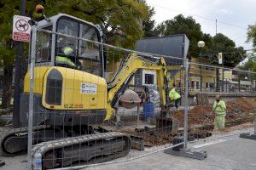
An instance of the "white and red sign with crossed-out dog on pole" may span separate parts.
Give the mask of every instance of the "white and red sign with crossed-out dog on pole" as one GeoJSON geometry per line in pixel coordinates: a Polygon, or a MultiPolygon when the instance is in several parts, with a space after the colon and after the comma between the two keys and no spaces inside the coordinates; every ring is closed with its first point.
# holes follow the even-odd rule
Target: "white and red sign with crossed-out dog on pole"
{"type": "Polygon", "coordinates": [[[29,42],[31,26],[28,24],[31,18],[15,15],[13,22],[13,40],[19,42],[29,42]]]}

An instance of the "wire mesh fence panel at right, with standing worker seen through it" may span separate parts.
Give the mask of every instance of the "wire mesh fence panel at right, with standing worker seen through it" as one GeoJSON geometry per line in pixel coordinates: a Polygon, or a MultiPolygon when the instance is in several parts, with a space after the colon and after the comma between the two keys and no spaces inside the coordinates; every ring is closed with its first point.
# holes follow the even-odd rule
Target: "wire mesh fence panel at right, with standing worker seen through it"
{"type": "MultiPolygon", "coordinates": [[[[253,130],[255,72],[196,63],[189,70],[189,140],[253,130]]],[[[183,122],[182,111],[176,116],[183,122]]]]}

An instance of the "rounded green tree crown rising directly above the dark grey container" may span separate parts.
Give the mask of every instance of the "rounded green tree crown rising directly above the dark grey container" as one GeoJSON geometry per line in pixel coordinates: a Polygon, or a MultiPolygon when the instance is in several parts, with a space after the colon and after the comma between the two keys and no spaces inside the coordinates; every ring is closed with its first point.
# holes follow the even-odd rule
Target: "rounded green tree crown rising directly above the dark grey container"
{"type": "MultiPolygon", "coordinates": [[[[156,27],[155,31],[160,36],[186,34],[189,37],[189,55],[197,57],[200,54],[200,48],[197,47],[197,42],[202,40],[204,34],[201,31],[201,25],[196,23],[191,16],[184,17],[183,14],[178,14],[172,20],[163,21],[156,27]]],[[[205,38],[205,41],[207,41],[207,35],[205,35],[205,38]]]]}

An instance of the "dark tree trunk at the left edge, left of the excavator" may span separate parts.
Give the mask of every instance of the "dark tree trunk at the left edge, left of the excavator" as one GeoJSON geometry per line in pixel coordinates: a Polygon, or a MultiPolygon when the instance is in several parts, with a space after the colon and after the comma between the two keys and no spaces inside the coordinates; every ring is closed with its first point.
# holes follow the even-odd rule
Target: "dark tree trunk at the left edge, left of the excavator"
{"type": "Polygon", "coordinates": [[[13,66],[3,67],[3,99],[2,108],[9,108],[12,98],[13,66]]]}

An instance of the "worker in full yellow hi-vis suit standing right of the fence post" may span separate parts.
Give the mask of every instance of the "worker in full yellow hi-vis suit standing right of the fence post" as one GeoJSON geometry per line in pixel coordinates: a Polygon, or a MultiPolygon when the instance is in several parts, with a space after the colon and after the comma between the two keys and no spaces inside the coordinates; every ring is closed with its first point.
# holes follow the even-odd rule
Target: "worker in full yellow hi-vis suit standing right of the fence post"
{"type": "Polygon", "coordinates": [[[216,96],[216,101],[214,101],[212,111],[215,113],[214,130],[224,129],[226,105],[224,100],[220,99],[219,95],[216,96]]]}

